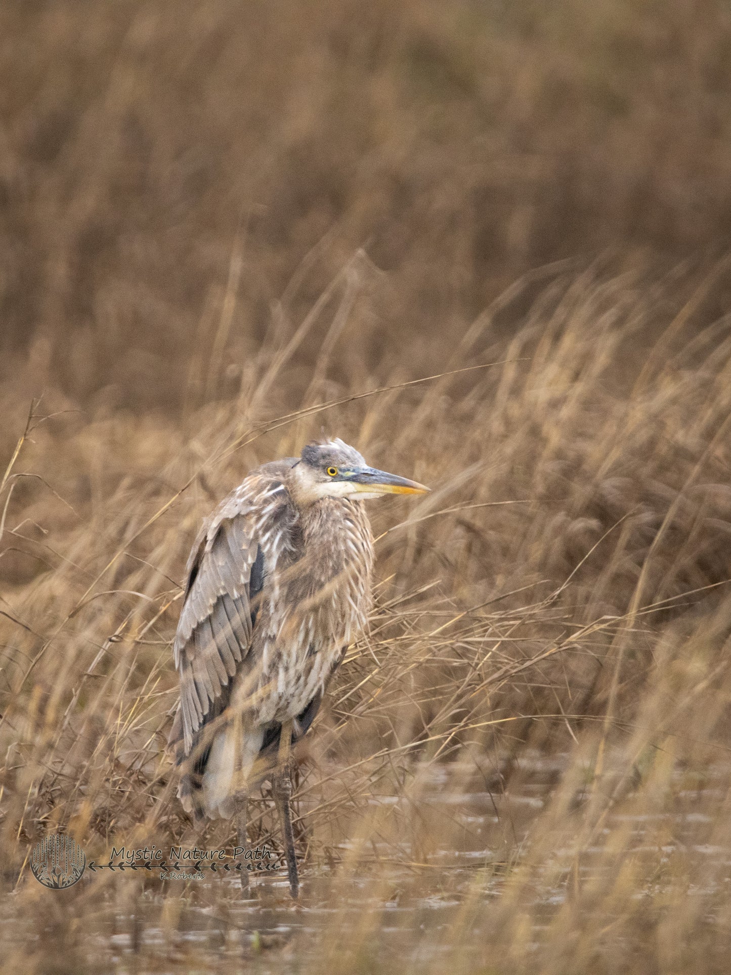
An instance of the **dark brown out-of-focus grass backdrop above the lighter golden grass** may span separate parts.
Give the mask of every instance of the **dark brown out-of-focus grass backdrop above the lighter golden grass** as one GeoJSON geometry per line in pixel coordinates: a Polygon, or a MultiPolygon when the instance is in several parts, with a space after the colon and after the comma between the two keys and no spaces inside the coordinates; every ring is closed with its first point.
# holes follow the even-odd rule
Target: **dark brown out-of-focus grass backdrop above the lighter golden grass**
{"type": "Polygon", "coordinates": [[[413,332],[422,374],[527,270],[726,247],[720,0],[9,0],[0,32],[3,370],[32,349],[87,400],[179,409],[318,246],[300,309],[365,247],[389,293],[359,359],[413,332]]]}

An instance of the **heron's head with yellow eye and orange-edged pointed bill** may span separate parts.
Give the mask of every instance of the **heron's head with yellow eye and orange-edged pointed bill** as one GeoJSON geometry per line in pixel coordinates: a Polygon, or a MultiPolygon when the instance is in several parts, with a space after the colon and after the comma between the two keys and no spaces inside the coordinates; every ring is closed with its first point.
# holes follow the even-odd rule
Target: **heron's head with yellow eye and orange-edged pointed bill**
{"type": "Polygon", "coordinates": [[[381,494],[426,494],[428,487],[368,467],[353,447],[341,440],[308,444],[291,472],[295,499],[312,504],[324,497],[366,500],[381,494]]]}

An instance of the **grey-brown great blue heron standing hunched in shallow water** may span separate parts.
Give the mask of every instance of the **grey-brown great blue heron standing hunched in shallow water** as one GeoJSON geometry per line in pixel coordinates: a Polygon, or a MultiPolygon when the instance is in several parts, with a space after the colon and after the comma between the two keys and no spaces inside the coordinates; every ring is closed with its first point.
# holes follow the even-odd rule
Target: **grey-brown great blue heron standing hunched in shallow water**
{"type": "MultiPolygon", "coordinates": [[[[428,489],[368,467],[341,440],[309,444],[252,471],[188,559],[174,643],[178,796],[196,821],[235,816],[246,847],[250,788],[270,778],[292,897],[289,750],[365,628],[373,543],[361,502],[428,489]]],[[[241,878],[246,887],[245,869],[241,878]]]]}

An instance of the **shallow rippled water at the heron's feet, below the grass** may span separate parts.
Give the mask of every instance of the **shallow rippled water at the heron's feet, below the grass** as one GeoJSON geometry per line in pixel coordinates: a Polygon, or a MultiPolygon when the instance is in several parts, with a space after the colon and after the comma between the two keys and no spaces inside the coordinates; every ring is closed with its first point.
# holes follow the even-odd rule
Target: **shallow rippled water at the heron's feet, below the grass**
{"type": "MultiPolygon", "coordinates": [[[[0,937],[6,953],[16,950],[19,957],[35,959],[40,971],[223,971],[247,960],[257,970],[298,971],[319,966],[324,944],[368,943],[376,936],[384,967],[404,953],[418,965],[419,959],[437,959],[449,948],[454,925],[465,923],[466,903],[499,901],[506,874],[530,850],[532,824],[551,799],[561,761],[528,757],[504,794],[454,791],[454,769],[451,778],[443,767],[435,769],[422,786],[418,811],[444,824],[447,844],[413,850],[406,836],[397,844],[374,838],[366,855],[360,851],[353,873],[305,864],[296,905],[283,870],[251,878],[248,900],[242,899],[238,878],[228,876],[163,886],[129,872],[103,883],[87,873],[69,891],[35,889],[28,878],[25,893],[32,905],[22,884],[6,895],[0,937]],[[59,943],[66,945],[60,956],[59,943]]],[[[550,850],[524,885],[523,893],[530,892],[524,905],[530,917],[525,950],[540,948],[576,885],[596,885],[615,869],[605,842],[619,835],[625,838],[625,860],[649,856],[657,865],[652,884],[637,888],[635,898],[662,896],[669,889],[673,880],[663,871],[677,855],[712,864],[712,876],[685,891],[709,898],[712,917],[713,898],[725,896],[731,886],[731,848],[709,839],[727,779],[728,769],[719,766],[707,772],[702,788],[689,789],[678,774],[674,800],[681,811],[610,811],[580,856],[570,842],[550,850]]],[[[399,796],[370,800],[394,813],[404,803],[399,796]]],[[[341,843],[337,854],[347,857],[349,846],[341,843]]],[[[611,928],[615,919],[607,913],[605,925],[611,928]]],[[[474,934],[477,945],[479,919],[470,924],[464,937],[469,941],[474,934]]]]}

